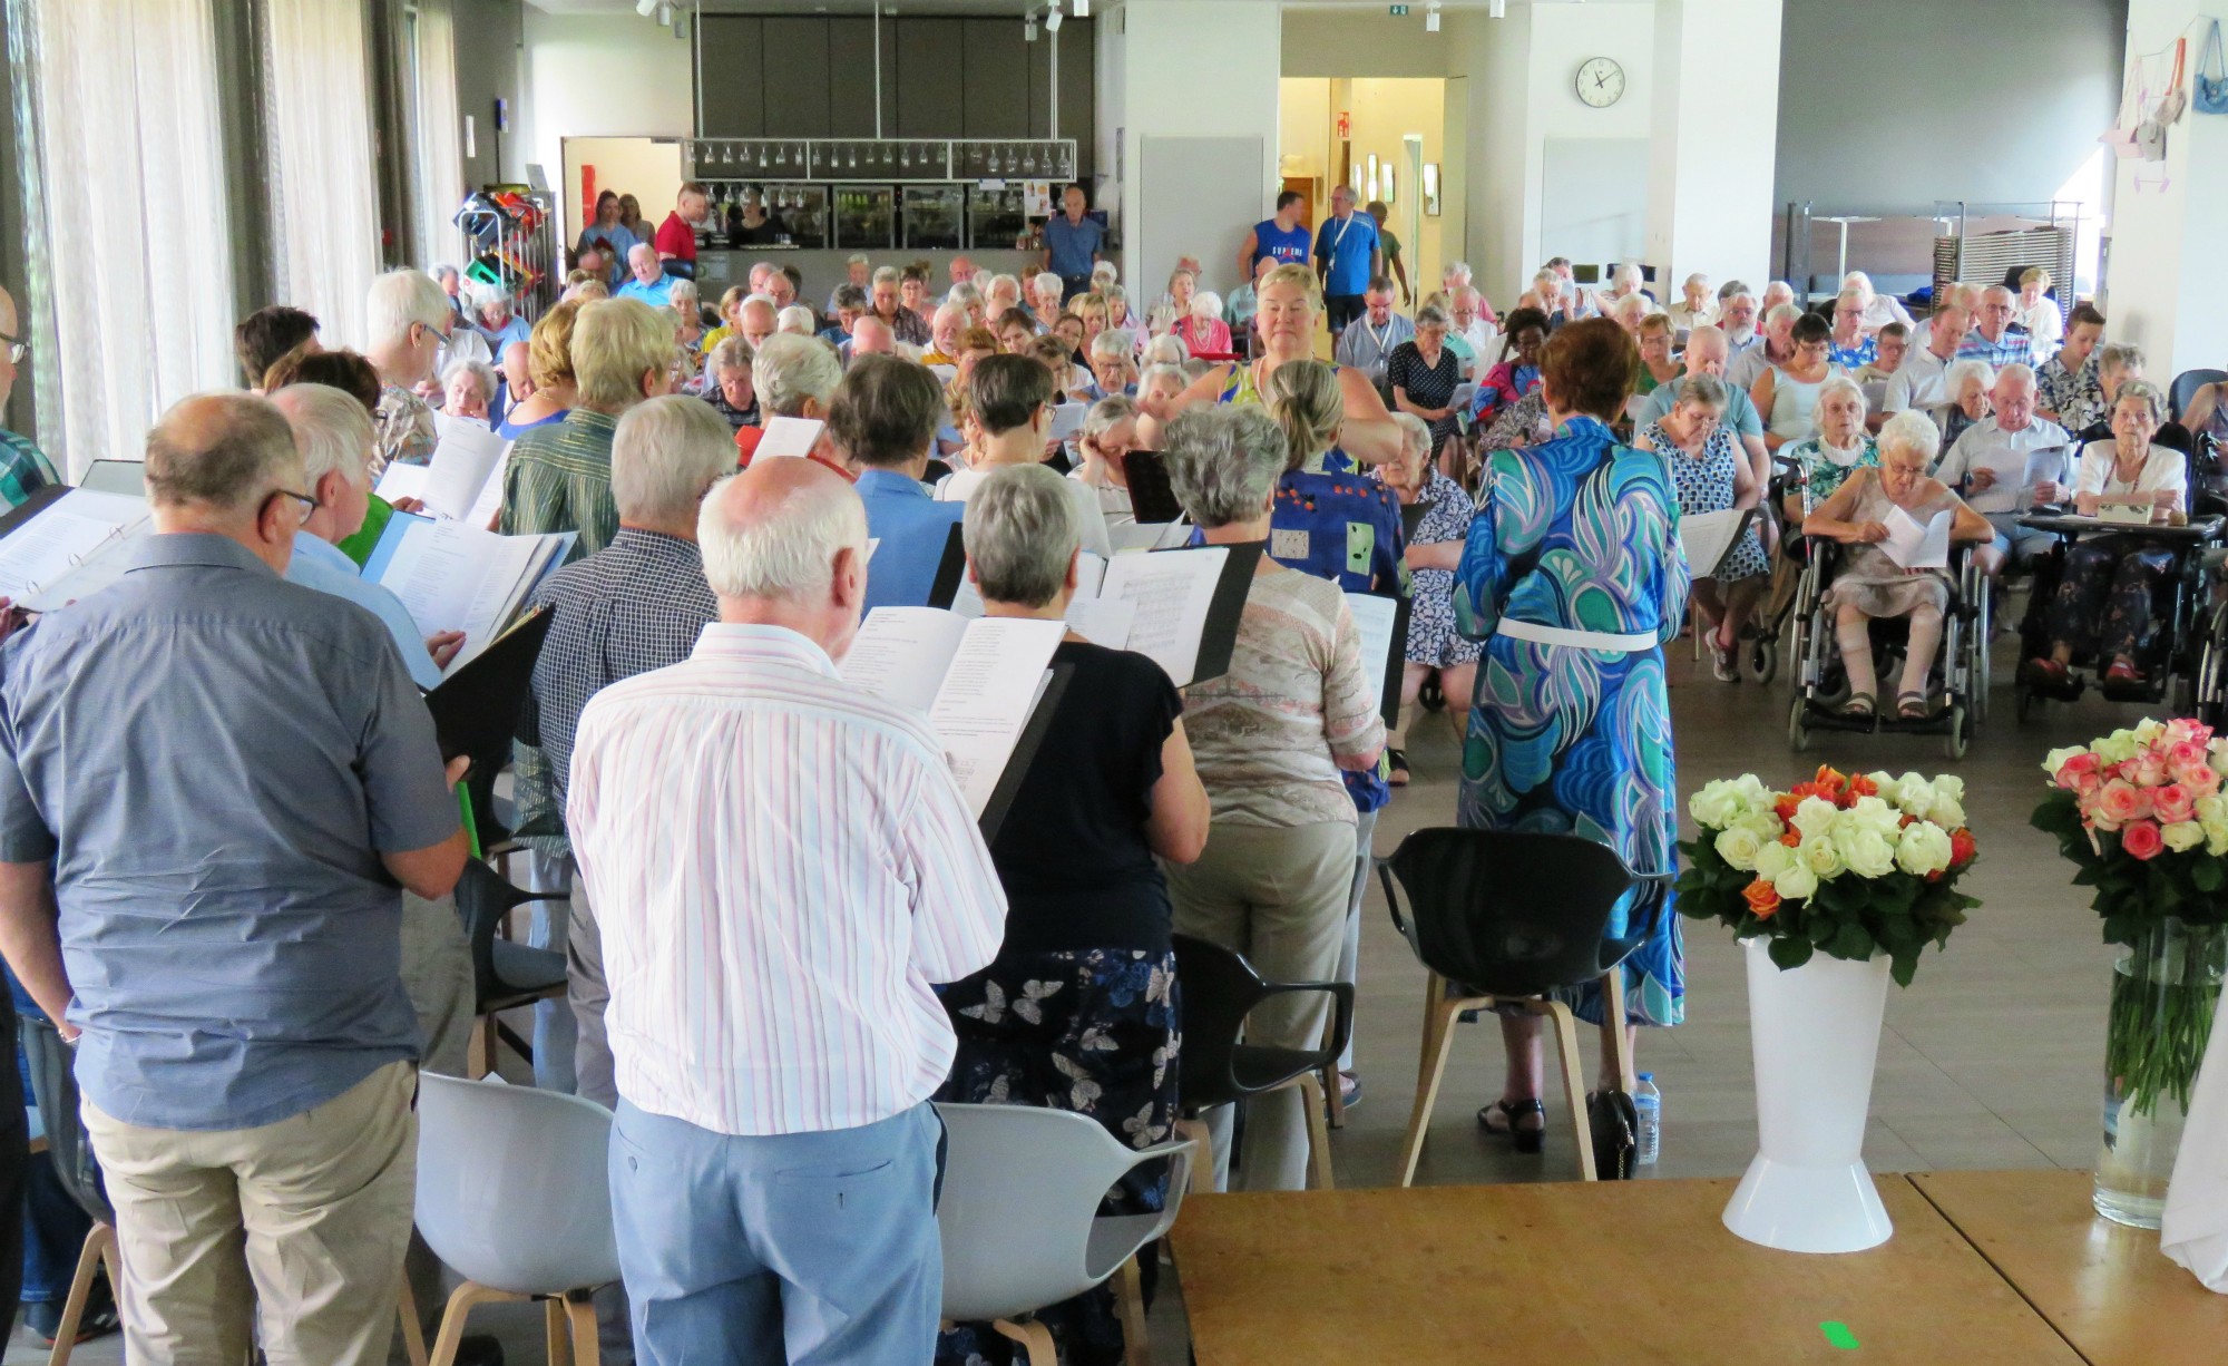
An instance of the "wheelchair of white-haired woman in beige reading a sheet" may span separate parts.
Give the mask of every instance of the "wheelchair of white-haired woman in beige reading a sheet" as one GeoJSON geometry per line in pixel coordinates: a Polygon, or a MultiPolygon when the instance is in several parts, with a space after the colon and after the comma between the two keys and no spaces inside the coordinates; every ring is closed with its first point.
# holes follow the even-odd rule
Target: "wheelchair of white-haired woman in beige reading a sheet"
{"type": "MultiPolygon", "coordinates": [[[[1941,735],[1943,755],[1965,758],[1972,735],[1987,711],[1987,577],[1974,562],[1970,544],[1950,548],[1950,608],[1943,613],[1943,640],[1927,675],[1941,693],[1941,706],[1923,718],[1903,720],[1892,709],[1874,715],[1849,715],[1849,677],[1840,664],[1840,642],[1834,633],[1825,593],[1834,584],[1845,546],[1831,537],[1800,537],[1802,568],[1796,584],[1794,617],[1794,704],[1787,711],[1787,747],[1809,749],[1814,731],[1941,735]]],[[[1872,669],[1876,677],[1903,671],[1909,644],[1909,619],[1872,619],[1872,669]]]]}

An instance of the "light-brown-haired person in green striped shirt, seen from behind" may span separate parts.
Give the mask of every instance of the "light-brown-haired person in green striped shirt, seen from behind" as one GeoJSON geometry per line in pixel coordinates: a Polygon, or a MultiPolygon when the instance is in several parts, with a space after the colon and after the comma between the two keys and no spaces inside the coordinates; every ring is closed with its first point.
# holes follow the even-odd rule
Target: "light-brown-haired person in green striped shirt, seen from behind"
{"type": "Polygon", "coordinates": [[[573,325],[577,394],[570,412],[510,446],[497,530],[577,530],[568,559],[595,555],[619,530],[610,501],[610,437],[626,410],[673,388],[673,323],[639,299],[604,299],[573,325]]]}

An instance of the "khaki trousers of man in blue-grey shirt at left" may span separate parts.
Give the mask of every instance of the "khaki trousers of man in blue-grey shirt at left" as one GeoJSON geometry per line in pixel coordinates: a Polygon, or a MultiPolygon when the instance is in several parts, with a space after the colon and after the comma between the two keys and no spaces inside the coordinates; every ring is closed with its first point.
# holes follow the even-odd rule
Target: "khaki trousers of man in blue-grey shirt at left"
{"type": "Polygon", "coordinates": [[[417,1065],[254,1130],[156,1130],[85,1103],[123,1255],[125,1359],[377,1366],[417,1199],[417,1065]]]}

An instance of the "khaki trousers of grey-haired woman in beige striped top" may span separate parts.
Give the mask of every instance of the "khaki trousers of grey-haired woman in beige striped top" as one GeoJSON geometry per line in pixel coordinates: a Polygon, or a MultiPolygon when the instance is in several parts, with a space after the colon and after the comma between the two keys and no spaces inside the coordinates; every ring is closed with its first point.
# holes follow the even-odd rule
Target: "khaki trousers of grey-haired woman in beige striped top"
{"type": "MultiPolygon", "coordinates": [[[[1355,885],[1355,825],[1332,820],[1268,829],[1214,822],[1192,865],[1161,865],[1176,934],[1237,949],[1270,983],[1328,983],[1346,943],[1355,885]]],[[[1181,983],[1179,983],[1181,985],[1181,983]]],[[[1245,1018],[1245,1041],[1321,1047],[1330,996],[1308,992],[1263,1001],[1245,1018]]],[[[1241,1190],[1303,1190],[1308,1112],[1299,1087],[1245,1105],[1241,1190]]],[[[1230,1186],[1230,1105],[1205,1114],[1214,1141],[1214,1188],[1230,1186]]]]}

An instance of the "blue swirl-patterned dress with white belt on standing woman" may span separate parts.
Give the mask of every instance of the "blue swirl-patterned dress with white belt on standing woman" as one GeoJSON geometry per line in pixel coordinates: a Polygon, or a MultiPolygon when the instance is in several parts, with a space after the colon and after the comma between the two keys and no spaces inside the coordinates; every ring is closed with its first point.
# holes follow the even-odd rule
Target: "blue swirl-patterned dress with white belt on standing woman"
{"type": "MultiPolygon", "coordinates": [[[[1591,417],[1553,441],[1497,450],[1455,573],[1455,619],[1486,640],[1462,749],[1457,820],[1470,829],[1566,831],[1640,874],[1669,871],[1678,842],[1671,704],[1662,644],[1687,608],[1678,497],[1664,459],[1620,446],[1591,417]],[[1638,653],[1493,635],[1508,615],[1540,626],[1653,635],[1638,653]]],[[[1620,931],[1613,925],[1611,931],[1620,931]]],[[[1626,1014],[1678,1025],[1687,972],[1678,916],[1624,960],[1626,1014]]],[[[1600,983],[1571,994],[1602,1021],[1600,983]]]]}

